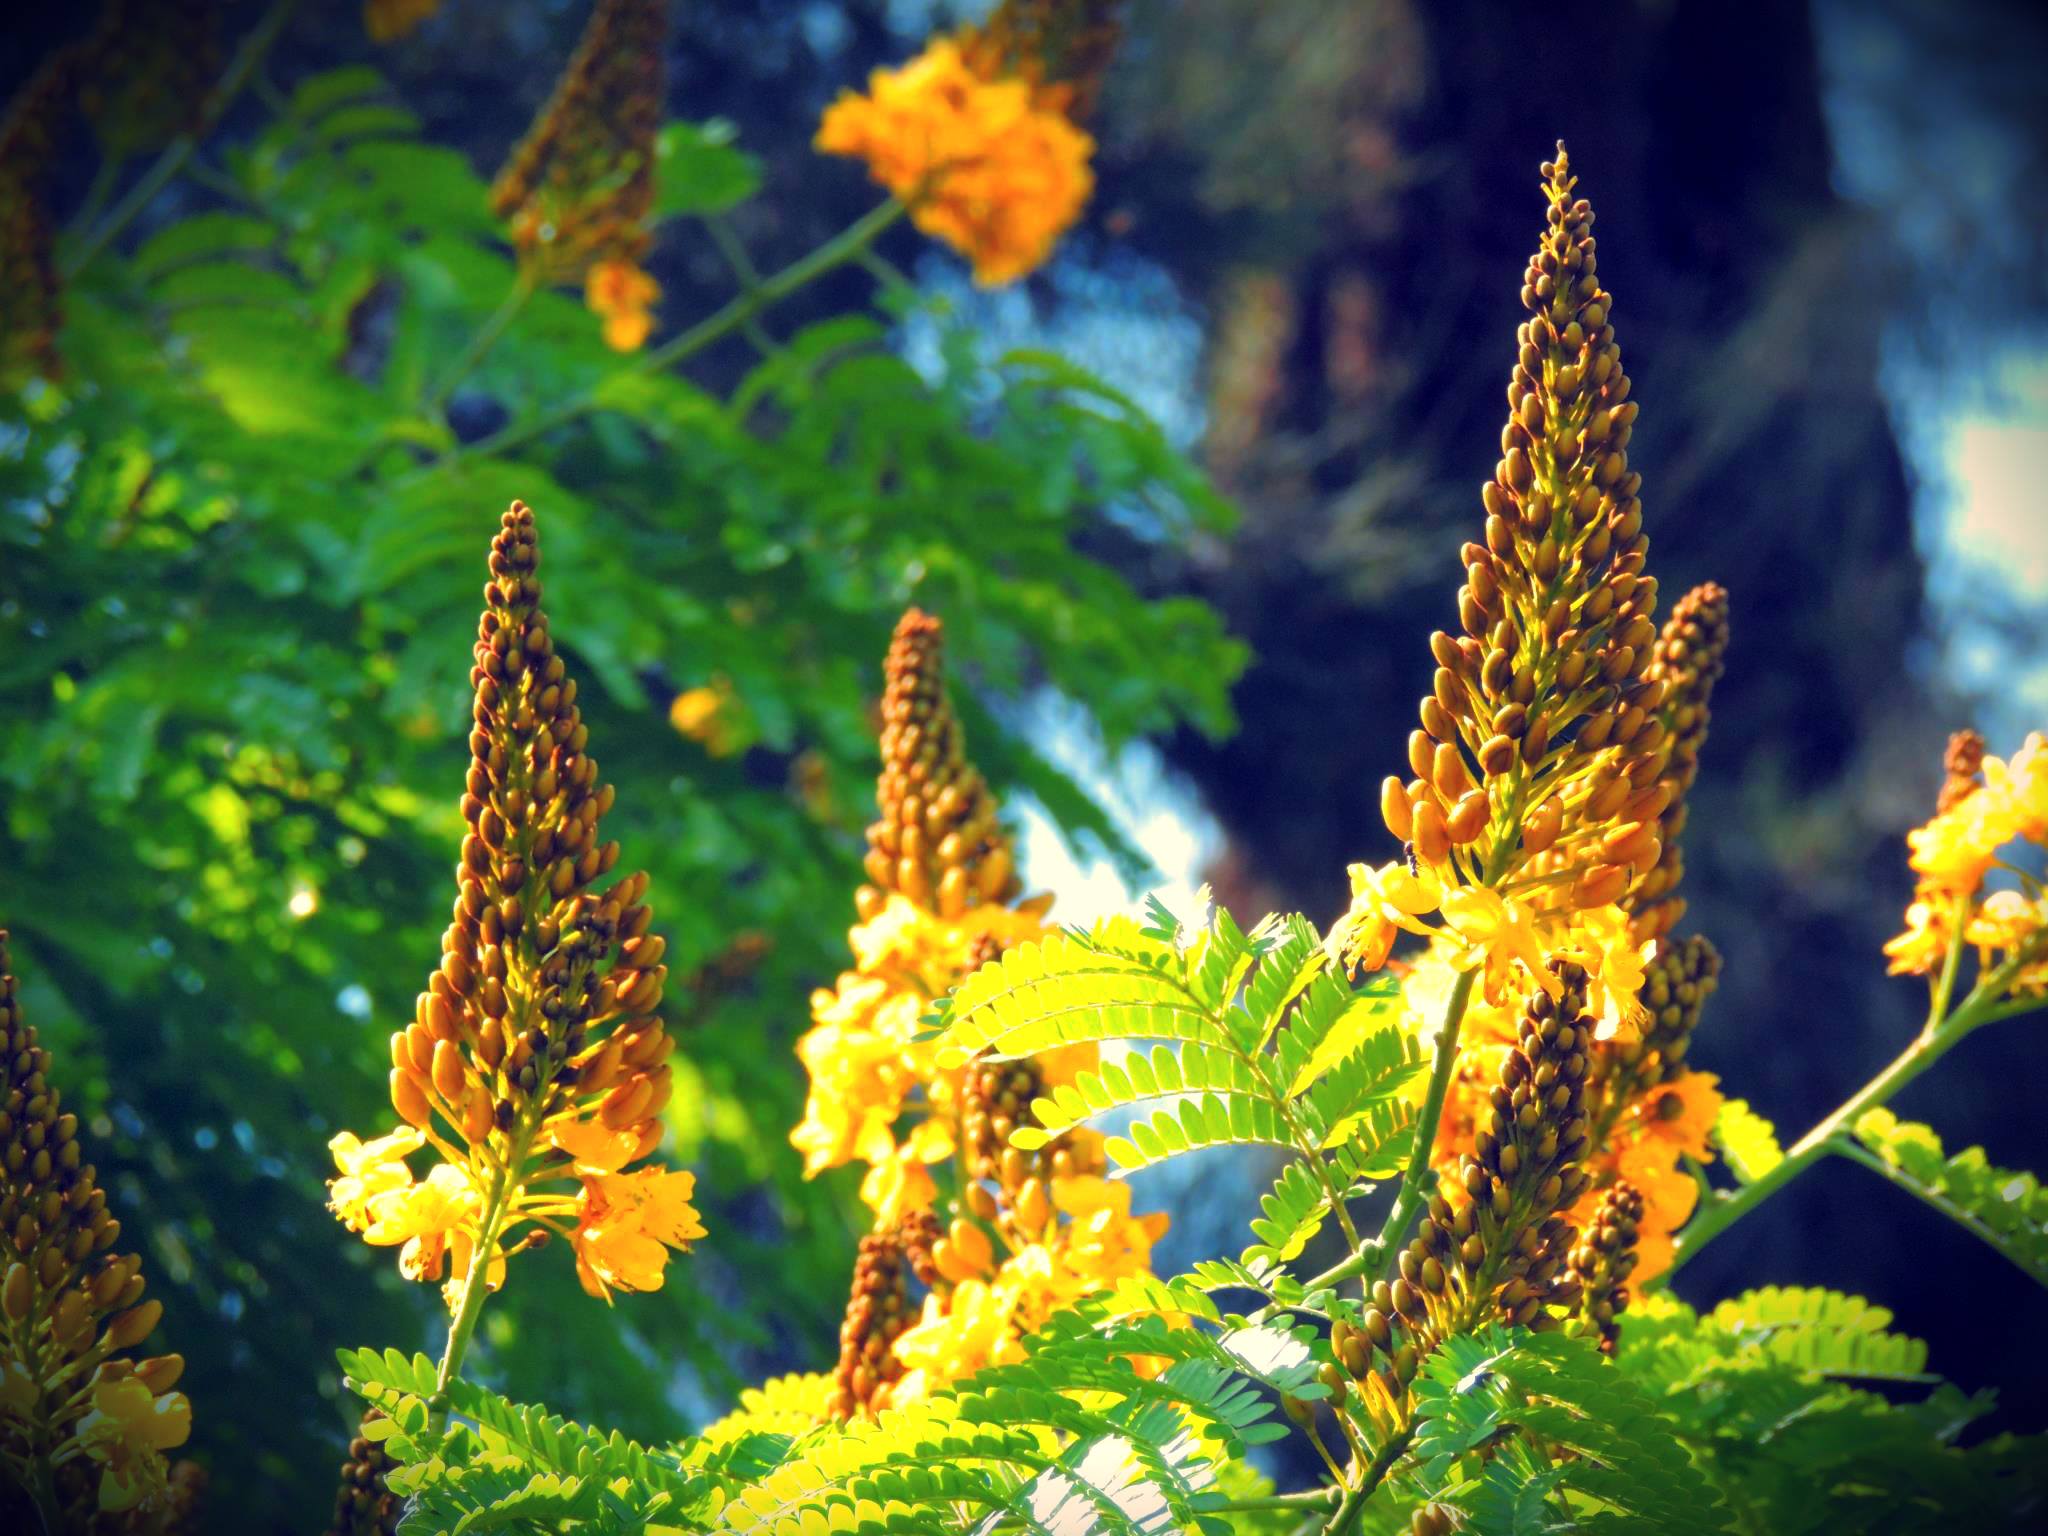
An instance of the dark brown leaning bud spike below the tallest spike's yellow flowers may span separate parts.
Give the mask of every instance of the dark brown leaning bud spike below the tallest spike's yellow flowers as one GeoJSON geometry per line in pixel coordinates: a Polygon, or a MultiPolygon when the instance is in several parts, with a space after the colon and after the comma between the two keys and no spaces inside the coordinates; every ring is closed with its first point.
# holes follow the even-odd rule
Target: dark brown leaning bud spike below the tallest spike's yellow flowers
{"type": "Polygon", "coordinates": [[[1331,1333],[1337,1360],[1380,1413],[1397,1409],[1442,1339],[1487,1317],[1554,1327],[1552,1309],[1579,1300],[1565,1274],[1573,1245],[1565,1212],[1587,1188],[1593,1020],[1585,969],[1552,961],[1548,971],[1559,995],[1530,993],[1475,1145],[1430,1200],[1397,1278],[1374,1282],[1360,1327],[1331,1333]]]}

